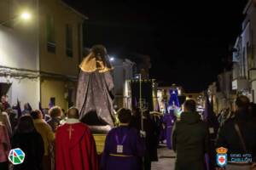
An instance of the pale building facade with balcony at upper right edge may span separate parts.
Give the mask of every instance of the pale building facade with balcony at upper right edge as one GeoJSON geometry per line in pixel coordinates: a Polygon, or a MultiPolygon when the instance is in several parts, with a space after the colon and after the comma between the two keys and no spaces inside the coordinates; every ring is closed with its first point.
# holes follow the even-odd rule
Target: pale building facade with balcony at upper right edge
{"type": "Polygon", "coordinates": [[[233,53],[232,88],[237,94],[247,95],[256,101],[256,8],[255,1],[249,0],[243,10],[241,35],[236,38],[233,53]]]}

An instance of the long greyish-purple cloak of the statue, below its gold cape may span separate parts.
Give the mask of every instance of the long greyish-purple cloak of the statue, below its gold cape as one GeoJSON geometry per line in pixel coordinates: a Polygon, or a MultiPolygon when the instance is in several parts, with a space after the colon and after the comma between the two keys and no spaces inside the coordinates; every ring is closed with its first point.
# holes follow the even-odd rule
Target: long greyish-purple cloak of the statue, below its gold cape
{"type": "Polygon", "coordinates": [[[80,119],[96,112],[99,120],[113,127],[113,77],[107,72],[84,72],[79,75],[77,107],[80,119]]]}

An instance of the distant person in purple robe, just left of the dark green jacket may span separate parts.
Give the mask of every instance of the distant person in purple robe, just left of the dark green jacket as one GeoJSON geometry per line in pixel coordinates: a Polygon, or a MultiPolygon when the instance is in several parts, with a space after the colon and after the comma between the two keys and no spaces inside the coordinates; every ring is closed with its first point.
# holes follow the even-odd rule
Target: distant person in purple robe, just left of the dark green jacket
{"type": "Polygon", "coordinates": [[[170,113],[165,114],[163,117],[163,122],[166,124],[166,145],[170,150],[172,150],[172,127],[174,126],[175,121],[176,117],[174,116],[173,110],[171,110],[170,113]]]}

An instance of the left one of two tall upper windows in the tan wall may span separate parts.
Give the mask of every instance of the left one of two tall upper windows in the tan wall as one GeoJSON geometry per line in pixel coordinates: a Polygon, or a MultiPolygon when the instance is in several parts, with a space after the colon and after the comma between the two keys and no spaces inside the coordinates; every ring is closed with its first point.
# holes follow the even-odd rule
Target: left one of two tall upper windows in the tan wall
{"type": "Polygon", "coordinates": [[[55,22],[54,18],[49,14],[46,15],[46,38],[47,50],[50,53],[55,53],[55,22]]]}

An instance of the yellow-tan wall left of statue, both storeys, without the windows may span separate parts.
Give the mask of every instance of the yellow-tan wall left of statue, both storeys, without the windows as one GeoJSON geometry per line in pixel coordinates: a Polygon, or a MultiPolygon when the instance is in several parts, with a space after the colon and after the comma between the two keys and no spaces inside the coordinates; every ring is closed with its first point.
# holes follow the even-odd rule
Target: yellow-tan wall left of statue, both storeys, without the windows
{"type": "MultiPolygon", "coordinates": [[[[79,76],[79,58],[82,49],[82,34],[80,32],[84,18],[67,7],[61,0],[39,0],[39,48],[40,71],[56,73],[62,76],[79,76]],[[50,15],[55,25],[55,53],[47,50],[46,17],[50,15]],[[66,54],[66,25],[72,26],[73,57],[66,54]]],[[[67,110],[68,88],[76,88],[75,82],[66,78],[54,80],[44,77],[41,82],[41,102],[43,107],[49,107],[49,99],[55,98],[55,105],[67,110]],[[66,95],[66,96],[65,96],[66,95]]],[[[75,92],[72,96],[74,99],[75,92]]]]}

